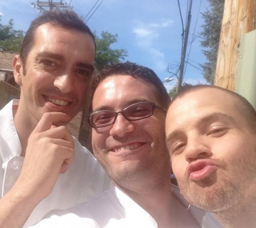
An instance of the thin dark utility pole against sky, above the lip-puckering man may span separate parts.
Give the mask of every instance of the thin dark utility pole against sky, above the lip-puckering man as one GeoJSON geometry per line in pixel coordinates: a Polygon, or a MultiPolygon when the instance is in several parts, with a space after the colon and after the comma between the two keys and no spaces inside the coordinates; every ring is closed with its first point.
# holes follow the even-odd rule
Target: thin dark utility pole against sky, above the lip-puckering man
{"type": "Polygon", "coordinates": [[[190,29],[190,23],[191,23],[191,8],[192,8],[192,0],[190,0],[188,17],[187,17],[187,21],[186,21],[185,35],[184,35],[184,41],[183,41],[183,46],[182,46],[182,52],[181,52],[181,61],[180,61],[180,68],[179,68],[179,79],[178,79],[177,92],[179,91],[179,89],[182,85],[182,81],[183,81],[185,58],[186,58],[186,51],[187,51],[188,38],[189,38],[189,29],[190,29]]]}

